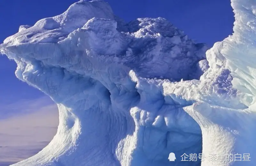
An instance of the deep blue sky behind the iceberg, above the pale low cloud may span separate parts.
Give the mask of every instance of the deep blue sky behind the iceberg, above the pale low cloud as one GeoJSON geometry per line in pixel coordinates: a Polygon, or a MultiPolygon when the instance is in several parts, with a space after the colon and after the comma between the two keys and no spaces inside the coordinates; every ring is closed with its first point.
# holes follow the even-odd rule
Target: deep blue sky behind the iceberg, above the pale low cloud
{"type": "MultiPolygon", "coordinates": [[[[205,42],[209,46],[216,41],[222,41],[233,32],[234,15],[229,0],[106,1],[111,5],[114,13],[125,21],[143,17],[163,17],[183,30],[190,38],[197,42],[205,42]]],[[[75,2],[76,0],[1,0],[0,42],[16,33],[20,25],[34,25],[39,19],[58,15],[75,2]]],[[[52,105],[51,100],[39,90],[19,81],[14,74],[15,68],[16,64],[13,61],[0,56],[0,125],[4,126],[1,123],[5,123],[7,126],[9,122],[18,124],[21,122],[20,119],[37,119],[39,117],[45,118],[45,121],[41,123],[48,123],[49,116],[58,121],[57,108],[52,105]],[[39,116],[41,115],[40,111],[45,111],[45,116],[39,116]]],[[[35,124],[29,120],[28,123],[31,123],[30,126],[35,124]]],[[[40,125],[44,126],[44,124],[40,125]]],[[[57,124],[53,123],[52,125],[56,126],[57,124]]],[[[0,132],[2,132],[1,129],[0,132]]],[[[15,133],[14,130],[12,132],[15,133]]],[[[33,130],[27,131],[27,133],[29,132],[33,132],[33,130]]],[[[52,136],[54,132],[56,131],[52,130],[52,136]]],[[[48,139],[52,136],[49,136],[48,139]]]]}

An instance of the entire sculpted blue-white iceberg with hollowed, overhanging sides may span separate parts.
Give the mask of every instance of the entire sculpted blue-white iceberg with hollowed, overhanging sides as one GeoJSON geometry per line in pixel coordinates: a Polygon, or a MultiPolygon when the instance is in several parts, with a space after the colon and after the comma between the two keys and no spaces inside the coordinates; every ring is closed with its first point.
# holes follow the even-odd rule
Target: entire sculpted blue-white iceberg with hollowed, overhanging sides
{"type": "Polygon", "coordinates": [[[256,2],[231,2],[234,34],[206,56],[167,20],[126,24],[99,0],[20,26],[1,52],[17,78],[57,103],[60,124],[47,147],[13,166],[254,165],[256,2]],[[206,158],[182,162],[184,153],[206,158]],[[208,156],[247,153],[251,162],[208,156]]]}

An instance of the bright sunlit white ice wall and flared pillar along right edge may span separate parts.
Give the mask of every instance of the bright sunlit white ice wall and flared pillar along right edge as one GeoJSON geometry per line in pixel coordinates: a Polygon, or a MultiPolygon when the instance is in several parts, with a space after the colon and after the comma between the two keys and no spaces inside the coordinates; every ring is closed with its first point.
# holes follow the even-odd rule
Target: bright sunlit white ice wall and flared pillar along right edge
{"type": "Polygon", "coordinates": [[[255,164],[256,159],[256,2],[231,0],[231,5],[236,19],[234,34],[222,42],[215,43],[213,48],[206,52],[210,68],[200,80],[214,80],[212,89],[215,94],[236,96],[239,101],[232,97],[231,100],[223,100],[224,105],[221,102],[194,103],[185,110],[201,127],[204,154],[231,153],[242,154],[242,157],[243,154],[250,154],[251,162],[214,163],[206,160],[202,162],[205,166],[250,166],[255,164]],[[246,107],[238,106],[234,102],[243,103],[246,107]]]}

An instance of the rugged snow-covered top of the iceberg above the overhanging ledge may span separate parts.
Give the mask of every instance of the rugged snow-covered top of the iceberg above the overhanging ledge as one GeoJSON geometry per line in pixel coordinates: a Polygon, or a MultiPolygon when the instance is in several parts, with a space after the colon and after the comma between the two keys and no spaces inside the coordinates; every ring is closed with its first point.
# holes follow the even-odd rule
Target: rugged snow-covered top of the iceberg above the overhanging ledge
{"type": "Polygon", "coordinates": [[[92,50],[84,58],[93,54],[96,59],[114,61],[144,78],[199,79],[208,68],[207,63],[201,63],[201,68],[199,65],[206,59],[206,45],[195,44],[166,19],[136,19],[122,24],[115,18],[103,1],[79,1],[59,16],[41,19],[34,26],[20,26],[19,33],[8,37],[4,45],[65,45],[76,38],[80,46],[73,50],[81,49],[80,54],[84,49],[92,50]]]}

